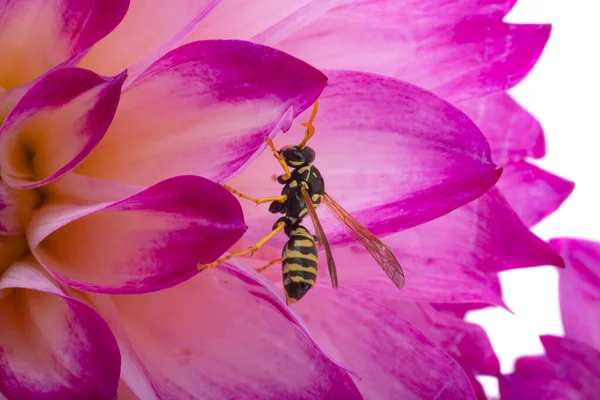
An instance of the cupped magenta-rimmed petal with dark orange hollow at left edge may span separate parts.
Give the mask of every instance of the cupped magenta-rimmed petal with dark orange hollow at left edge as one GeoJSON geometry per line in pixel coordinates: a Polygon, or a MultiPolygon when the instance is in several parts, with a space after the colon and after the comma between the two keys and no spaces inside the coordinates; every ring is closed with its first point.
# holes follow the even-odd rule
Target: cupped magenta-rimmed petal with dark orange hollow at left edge
{"type": "Polygon", "coordinates": [[[0,128],[2,180],[26,189],[57,179],[98,144],[115,114],[122,73],[52,71],[17,103],[0,128]]]}

